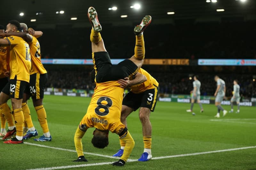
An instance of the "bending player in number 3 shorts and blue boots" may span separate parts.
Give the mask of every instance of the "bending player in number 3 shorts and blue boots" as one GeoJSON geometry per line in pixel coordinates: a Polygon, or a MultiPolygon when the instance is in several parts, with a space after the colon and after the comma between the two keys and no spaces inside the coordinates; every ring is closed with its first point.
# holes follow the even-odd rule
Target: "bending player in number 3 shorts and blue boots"
{"type": "MultiPolygon", "coordinates": [[[[148,161],[152,158],[151,154],[151,141],[152,141],[152,126],[150,122],[150,113],[154,112],[156,107],[156,100],[159,92],[158,82],[153,78],[146,70],[140,68],[134,79],[128,81],[128,83],[120,79],[118,82],[122,87],[128,86],[131,91],[124,97],[121,122],[127,127],[126,118],[133,111],[140,108],[139,118],[142,124],[144,151],[138,159],[139,161],[148,161]],[[138,78],[140,77],[140,78],[138,78]],[[126,84],[127,83],[127,84],[126,84]]],[[[124,141],[119,138],[121,149],[113,155],[113,157],[121,157],[124,152],[124,141]]]]}

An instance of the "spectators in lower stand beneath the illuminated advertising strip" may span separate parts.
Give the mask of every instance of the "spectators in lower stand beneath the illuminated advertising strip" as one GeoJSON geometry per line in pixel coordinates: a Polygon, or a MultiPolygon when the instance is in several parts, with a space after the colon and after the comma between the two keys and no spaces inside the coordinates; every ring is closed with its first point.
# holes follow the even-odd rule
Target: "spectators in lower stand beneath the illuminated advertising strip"
{"type": "MultiPolygon", "coordinates": [[[[159,82],[160,93],[169,94],[189,94],[193,90],[193,79],[189,79],[186,73],[172,72],[150,72],[159,82]]],[[[215,74],[199,74],[201,81],[201,95],[213,96],[216,90],[216,82],[214,81],[215,74]]],[[[233,91],[233,80],[238,79],[241,86],[240,94],[244,97],[256,97],[256,82],[252,81],[252,75],[230,75],[220,74],[226,82],[226,96],[231,96],[233,91]]],[[[90,82],[89,71],[70,71],[70,70],[48,70],[48,83],[46,87],[65,88],[65,89],[90,89],[93,90],[94,85],[90,82]],[[74,76],[76,75],[76,76],[74,76]]]]}

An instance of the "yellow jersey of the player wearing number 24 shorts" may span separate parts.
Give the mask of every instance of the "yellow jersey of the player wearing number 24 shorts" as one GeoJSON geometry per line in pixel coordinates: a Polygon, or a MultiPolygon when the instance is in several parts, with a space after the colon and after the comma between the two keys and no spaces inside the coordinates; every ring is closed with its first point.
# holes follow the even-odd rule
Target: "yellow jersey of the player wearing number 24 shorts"
{"type": "Polygon", "coordinates": [[[31,70],[30,74],[40,73],[45,74],[47,71],[41,62],[40,44],[36,37],[32,37],[32,42],[29,42],[30,55],[31,55],[31,70]]]}

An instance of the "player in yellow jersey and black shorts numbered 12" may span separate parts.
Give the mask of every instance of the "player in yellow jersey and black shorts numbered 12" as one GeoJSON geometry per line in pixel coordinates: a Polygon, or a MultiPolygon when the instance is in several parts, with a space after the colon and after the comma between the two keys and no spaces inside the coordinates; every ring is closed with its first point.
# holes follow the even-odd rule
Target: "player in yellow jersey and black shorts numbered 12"
{"type": "MultiPolygon", "coordinates": [[[[18,21],[10,21],[6,26],[6,33],[17,32],[20,29],[20,23],[18,21]]],[[[27,36],[27,38],[31,38],[27,36]]],[[[0,93],[1,106],[9,99],[12,100],[13,114],[15,118],[16,137],[9,141],[5,141],[5,144],[21,144],[23,143],[23,122],[24,115],[22,112],[22,98],[26,86],[29,83],[29,70],[31,69],[29,45],[21,37],[10,36],[4,39],[0,39],[1,46],[10,46],[10,81],[4,87],[0,93]]],[[[8,111],[1,111],[4,114],[8,114],[8,111]]],[[[15,128],[13,129],[15,131],[15,128]]],[[[7,134],[6,134],[7,135],[7,134]]],[[[5,135],[5,137],[6,137],[5,135]]],[[[5,138],[4,137],[4,138],[5,138]]],[[[4,139],[3,138],[3,139],[4,139]]]]}

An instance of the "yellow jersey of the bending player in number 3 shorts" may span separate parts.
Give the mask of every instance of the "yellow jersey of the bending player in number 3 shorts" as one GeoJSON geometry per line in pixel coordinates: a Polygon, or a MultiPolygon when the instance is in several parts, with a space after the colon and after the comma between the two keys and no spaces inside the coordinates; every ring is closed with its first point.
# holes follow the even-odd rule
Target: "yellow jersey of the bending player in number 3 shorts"
{"type": "Polygon", "coordinates": [[[155,87],[158,87],[158,82],[156,81],[155,78],[153,78],[146,70],[143,70],[142,68],[140,68],[138,70],[139,73],[143,74],[144,76],[146,76],[147,78],[147,81],[141,83],[141,84],[138,84],[138,85],[133,85],[131,86],[131,92],[133,93],[142,93],[144,92],[145,90],[148,90],[148,89],[153,89],[155,87]]]}

